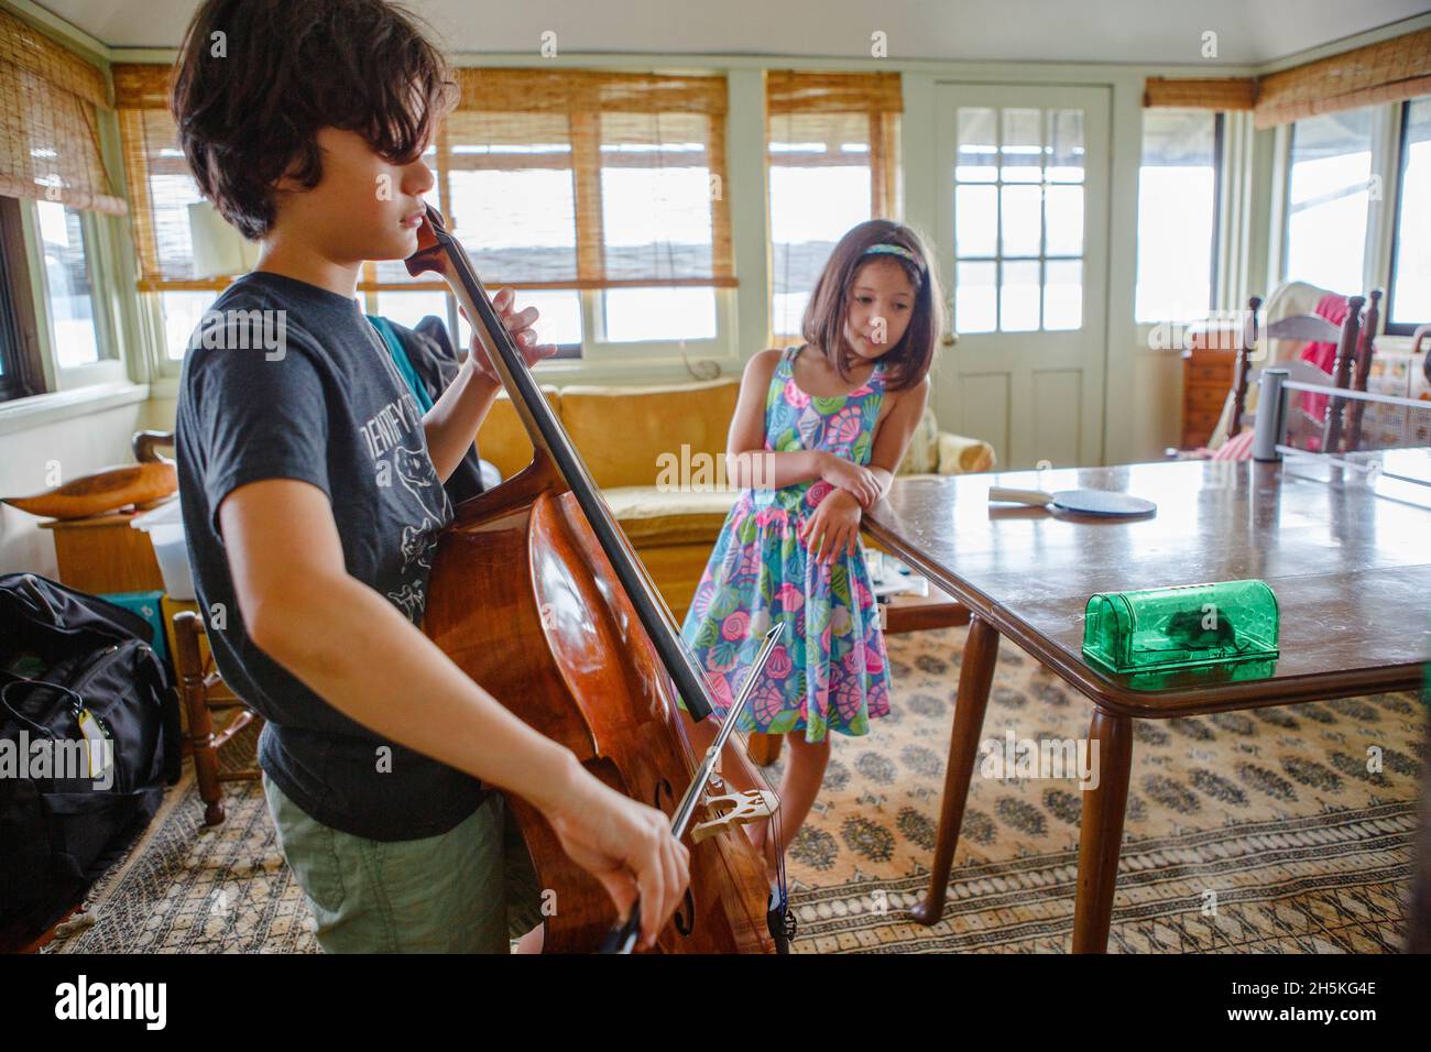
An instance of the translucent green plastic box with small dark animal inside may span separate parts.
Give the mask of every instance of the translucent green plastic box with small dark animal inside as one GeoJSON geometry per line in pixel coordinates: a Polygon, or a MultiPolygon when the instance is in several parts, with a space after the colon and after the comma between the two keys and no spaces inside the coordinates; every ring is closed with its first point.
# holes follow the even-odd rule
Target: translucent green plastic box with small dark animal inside
{"type": "Polygon", "coordinates": [[[1276,631],[1265,581],[1099,593],[1083,610],[1083,657],[1120,674],[1266,661],[1276,631]]]}

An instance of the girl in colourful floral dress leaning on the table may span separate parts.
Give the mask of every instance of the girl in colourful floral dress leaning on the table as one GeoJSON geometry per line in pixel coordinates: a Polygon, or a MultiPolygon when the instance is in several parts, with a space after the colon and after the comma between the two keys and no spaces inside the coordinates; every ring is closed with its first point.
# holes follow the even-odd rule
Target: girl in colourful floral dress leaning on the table
{"type": "MultiPolygon", "coordinates": [[[[806,342],[757,354],[741,379],[727,464],[744,490],[681,635],[724,717],[766,631],[784,624],[737,724],[790,743],[777,834],[747,826],[771,872],[814,804],[829,731],[867,734],[870,720],[889,713],[860,517],[889,491],[924,412],[940,302],[919,235],[889,220],[860,223],[816,282],[806,342]]],[[[698,747],[717,723],[694,724],[698,747]]],[[[733,746],[723,766],[737,787],[757,787],[733,746]]]]}

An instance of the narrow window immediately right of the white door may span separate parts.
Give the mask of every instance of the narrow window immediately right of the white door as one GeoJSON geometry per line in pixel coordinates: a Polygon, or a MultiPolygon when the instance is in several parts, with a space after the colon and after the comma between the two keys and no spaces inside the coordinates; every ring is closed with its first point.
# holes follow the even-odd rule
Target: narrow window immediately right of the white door
{"type": "Polygon", "coordinates": [[[1138,170],[1139,322],[1193,322],[1212,308],[1222,115],[1143,110],[1138,170]]]}

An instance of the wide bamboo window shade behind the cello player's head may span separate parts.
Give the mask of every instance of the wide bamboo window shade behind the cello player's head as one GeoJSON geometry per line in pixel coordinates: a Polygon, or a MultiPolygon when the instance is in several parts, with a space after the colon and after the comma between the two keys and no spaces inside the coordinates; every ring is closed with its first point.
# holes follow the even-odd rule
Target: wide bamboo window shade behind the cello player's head
{"type": "MultiPolygon", "coordinates": [[[[721,76],[454,70],[461,99],[429,165],[448,229],[488,285],[594,289],[736,285],[726,200],[721,76]],[[640,208],[631,202],[640,200],[640,208]]],[[[167,110],[169,69],[116,66],[142,288],[192,281],[186,209],[197,200],[167,110]],[[186,183],[176,180],[182,175],[186,183]]],[[[363,291],[445,291],[401,260],[363,291]]]]}

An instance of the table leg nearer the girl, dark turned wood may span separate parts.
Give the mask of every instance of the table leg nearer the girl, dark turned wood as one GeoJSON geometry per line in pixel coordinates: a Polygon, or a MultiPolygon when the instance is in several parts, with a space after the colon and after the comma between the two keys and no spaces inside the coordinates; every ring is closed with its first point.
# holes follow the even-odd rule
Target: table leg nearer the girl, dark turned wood
{"type": "Polygon", "coordinates": [[[959,670],[959,694],[954,698],[954,727],[949,736],[949,764],[944,769],[944,796],[939,809],[939,840],[934,844],[934,870],[929,895],[910,913],[922,925],[936,925],[944,912],[949,870],[954,865],[959,827],[964,822],[969,779],[979,754],[979,734],[989,706],[989,687],[999,658],[999,633],[977,614],[969,618],[963,664],[959,670]]]}

